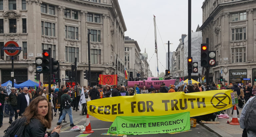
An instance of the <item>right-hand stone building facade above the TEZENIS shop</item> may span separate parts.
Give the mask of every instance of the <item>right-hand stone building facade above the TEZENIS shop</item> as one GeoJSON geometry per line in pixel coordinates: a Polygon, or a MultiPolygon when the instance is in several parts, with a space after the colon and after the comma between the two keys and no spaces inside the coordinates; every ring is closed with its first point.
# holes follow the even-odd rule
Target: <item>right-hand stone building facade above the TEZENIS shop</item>
{"type": "Polygon", "coordinates": [[[202,5],[203,43],[216,51],[213,82],[220,72],[227,83],[256,84],[256,0],[205,0],[202,5]]]}

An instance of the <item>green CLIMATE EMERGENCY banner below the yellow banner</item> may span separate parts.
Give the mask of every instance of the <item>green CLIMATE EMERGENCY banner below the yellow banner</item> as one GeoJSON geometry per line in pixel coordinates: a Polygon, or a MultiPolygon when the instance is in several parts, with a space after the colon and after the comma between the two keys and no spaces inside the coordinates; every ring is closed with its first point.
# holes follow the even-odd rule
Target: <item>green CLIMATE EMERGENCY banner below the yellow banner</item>
{"type": "Polygon", "coordinates": [[[141,135],[190,130],[190,112],[165,116],[117,116],[111,134],[141,135]]]}

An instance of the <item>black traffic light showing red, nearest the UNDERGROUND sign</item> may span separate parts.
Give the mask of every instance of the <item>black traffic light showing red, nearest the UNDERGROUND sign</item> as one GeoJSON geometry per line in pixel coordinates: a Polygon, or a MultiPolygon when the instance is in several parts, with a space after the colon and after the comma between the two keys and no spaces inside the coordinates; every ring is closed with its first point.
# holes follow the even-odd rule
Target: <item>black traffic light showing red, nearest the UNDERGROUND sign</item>
{"type": "Polygon", "coordinates": [[[51,50],[43,50],[43,73],[51,73],[51,50]]]}

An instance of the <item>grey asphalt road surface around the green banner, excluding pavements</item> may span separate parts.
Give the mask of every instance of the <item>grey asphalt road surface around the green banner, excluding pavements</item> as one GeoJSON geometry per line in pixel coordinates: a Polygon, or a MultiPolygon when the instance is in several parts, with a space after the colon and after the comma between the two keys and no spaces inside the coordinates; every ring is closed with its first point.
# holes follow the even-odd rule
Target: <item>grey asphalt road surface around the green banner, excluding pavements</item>
{"type": "MultiPolygon", "coordinates": [[[[68,121],[69,122],[69,121],[68,121]]],[[[108,128],[110,127],[110,125],[112,124],[112,122],[106,122],[106,121],[101,121],[98,120],[95,117],[91,117],[90,116],[90,122],[91,122],[91,127],[92,130],[94,131],[94,133],[88,135],[88,137],[107,137],[106,135],[101,135],[103,133],[107,133],[108,128]]],[[[76,125],[84,125],[85,123],[85,118],[80,118],[76,121],[74,121],[74,123],[76,125]]],[[[71,129],[71,127],[69,127],[69,124],[65,125],[62,127],[61,133],[60,133],[60,137],[76,137],[80,134],[80,131],[72,131],[70,132],[69,130],[71,129]]],[[[138,129],[139,130],[139,129],[138,129]]],[[[182,133],[176,133],[176,134],[146,134],[146,135],[124,135],[123,137],[169,137],[169,136],[173,136],[173,137],[218,137],[215,133],[210,132],[209,130],[207,130],[206,128],[204,128],[202,125],[198,124],[196,125],[195,128],[191,128],[191,131],[187,131],[187,132],[182,132],[182,133]]]]}

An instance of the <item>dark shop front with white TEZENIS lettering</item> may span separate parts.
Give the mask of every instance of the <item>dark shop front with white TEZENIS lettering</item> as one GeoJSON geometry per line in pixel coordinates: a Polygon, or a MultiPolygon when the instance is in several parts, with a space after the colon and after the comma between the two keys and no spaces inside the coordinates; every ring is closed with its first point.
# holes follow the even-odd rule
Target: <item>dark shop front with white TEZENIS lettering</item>
{"type": "Polygon", "coordinates": [[[247,69],[231,69],[229,70],[229,83],[243,83],[246,84],[250,79],[247,79],[247,69]]]}

